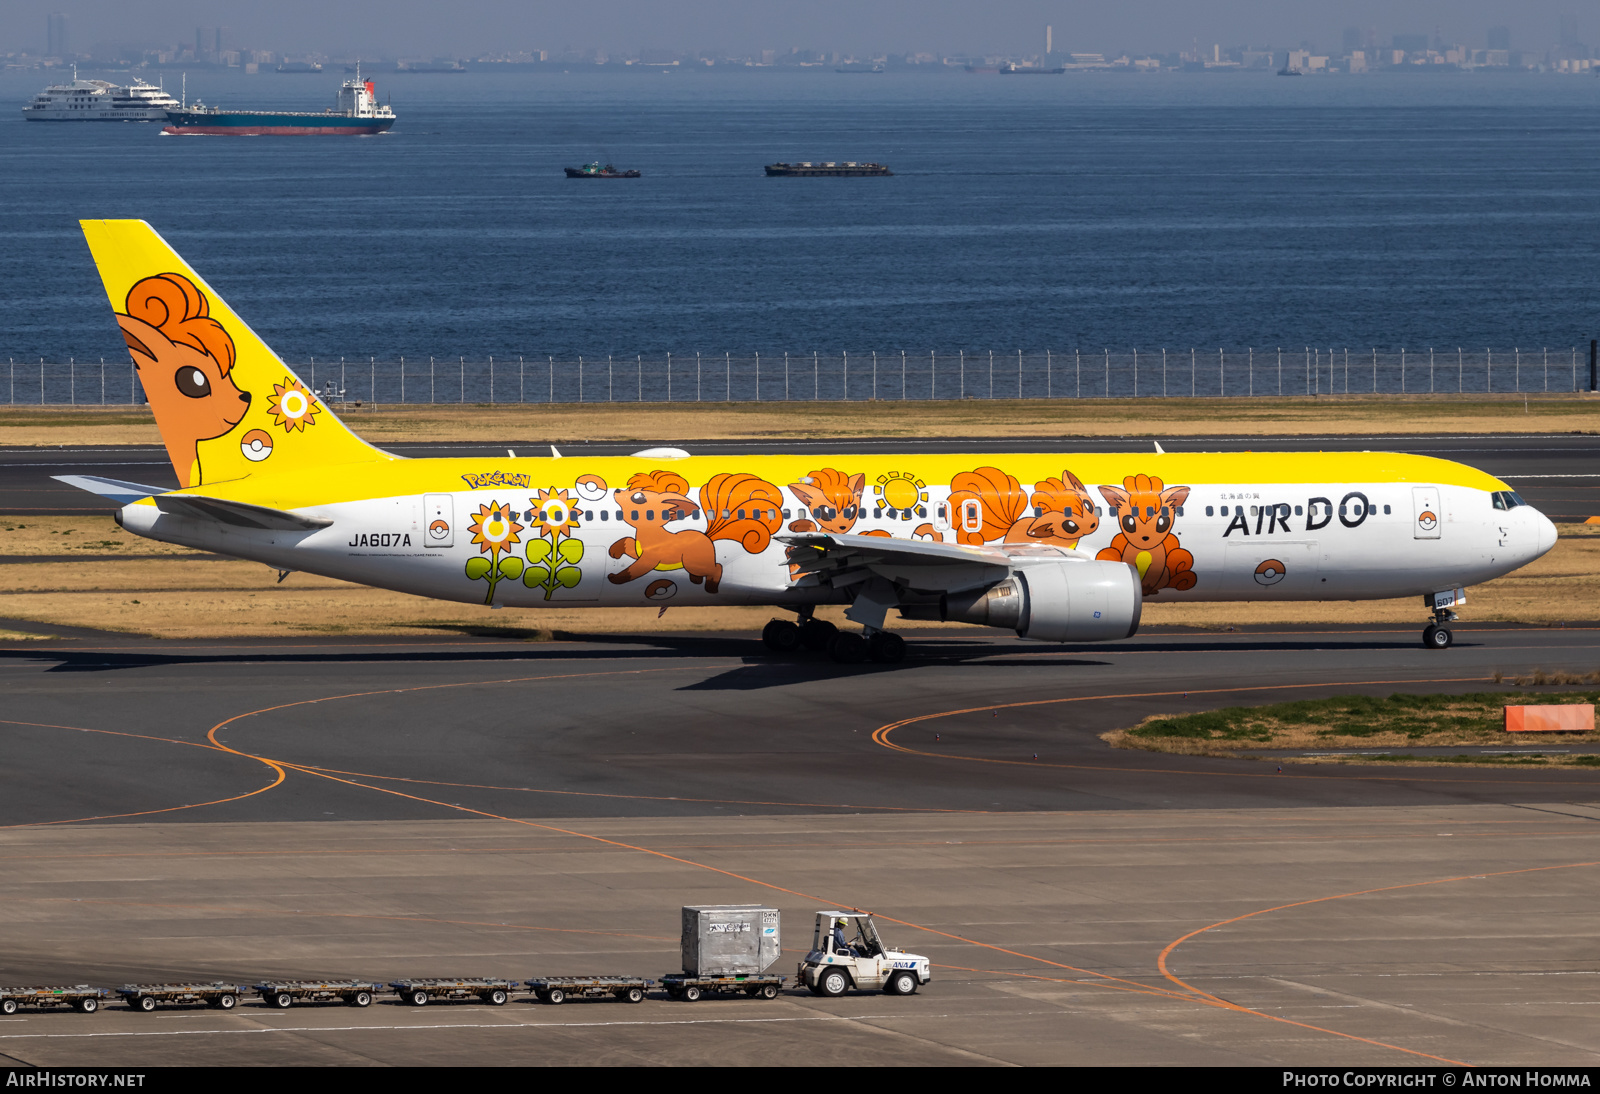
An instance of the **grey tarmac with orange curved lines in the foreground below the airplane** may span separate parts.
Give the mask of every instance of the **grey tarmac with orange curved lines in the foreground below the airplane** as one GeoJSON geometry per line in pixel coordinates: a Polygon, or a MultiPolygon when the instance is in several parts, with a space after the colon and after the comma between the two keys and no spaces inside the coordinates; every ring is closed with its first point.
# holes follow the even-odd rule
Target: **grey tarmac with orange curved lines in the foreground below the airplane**
{"type": "Polygon", "coordinates": [[[912,645],[845,669],[736,635],[13,643],[0,982],[659,974],[678,905],[736,900],[782,908],[789,968],[843,904],[936,979],[701,1009],[21,1014],[0,1056],[805,1064],[818,1038],[874,1064],[1600,1056],[1600,773],[1277,774],[1096,736],[1589,670],[1600,632],[1462,627],[1437,653],[1413,629],[912,645]]]}

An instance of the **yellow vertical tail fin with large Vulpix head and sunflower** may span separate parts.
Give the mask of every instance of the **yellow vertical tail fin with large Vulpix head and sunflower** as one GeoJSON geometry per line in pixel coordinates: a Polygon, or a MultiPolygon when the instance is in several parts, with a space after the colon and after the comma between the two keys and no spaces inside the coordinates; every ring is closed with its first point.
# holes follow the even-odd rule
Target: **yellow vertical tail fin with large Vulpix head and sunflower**
{"type": "Polygon", "coordinates": [[[334,417],[144,221],[80,221],[181,486],[392,459],[334,417]]]}

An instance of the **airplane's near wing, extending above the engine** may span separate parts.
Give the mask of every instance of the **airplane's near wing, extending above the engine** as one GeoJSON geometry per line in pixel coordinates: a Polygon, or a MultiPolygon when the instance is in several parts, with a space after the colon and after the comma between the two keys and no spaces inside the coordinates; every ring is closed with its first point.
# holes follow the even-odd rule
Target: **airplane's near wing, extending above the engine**
{"type": "Polygon", "coordinates": [[[966,547],[926,539],[832,533],[797,533],[778,539],[789,544],[789,561],[797,568],[792,584],[800,589],[845,589],[883,577],[899,589],[950,593],[992,585],[1024,558],[1040,553],[1056,560],[1085,558],[1080,552],[1030,544],[966,547]]]}

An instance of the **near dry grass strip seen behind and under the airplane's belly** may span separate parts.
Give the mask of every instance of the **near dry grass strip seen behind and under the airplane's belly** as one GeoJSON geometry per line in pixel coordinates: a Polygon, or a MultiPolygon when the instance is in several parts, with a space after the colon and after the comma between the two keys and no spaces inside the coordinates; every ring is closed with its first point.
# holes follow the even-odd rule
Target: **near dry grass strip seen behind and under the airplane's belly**
{"type": "MultiPolygon", "coordinates": [[[[1552,625],[1600,619],[1600,526],[1562,525],[1555,550],[1470,590],[1472,622],[1552,625]]],[[[821,614],[840,622],[840,609],[821,614]]],[[[768,608],[610,608],[517,611],[453,605],[291,574],[131,536],[110,517],[0,518],[0,619],[98,627],[157,638],[485,633],[755,633],[768,608]]],[[[1416,624],[1413,598],[1326,603],[1147,605],[1144,622],[1194,627],[1262,624],[1416,624]]],[[[962,624],[944,624],[965,630],[962,624]]],[[[941,624],[915,625],[917,630],[941,624]]]]}

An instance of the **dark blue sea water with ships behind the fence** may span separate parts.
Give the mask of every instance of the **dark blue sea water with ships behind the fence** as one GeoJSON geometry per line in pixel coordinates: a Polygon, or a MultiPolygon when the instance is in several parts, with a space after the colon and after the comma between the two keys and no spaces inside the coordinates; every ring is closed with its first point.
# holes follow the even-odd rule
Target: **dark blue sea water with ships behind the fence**
{"type": "MultiPolygon", "coordinates": [[[[1590,77],[390,74],[376,138],[24,122],[48,78],[0,77],[0,358],[126,360],[78,218],[149,221],[290,360],[1600,333],[1590,77]],[[590,160],[643,178],[563,176],[590,160]]],[[[322,109],[342,78],[195,74],[189,99],[322,109]]]]}

